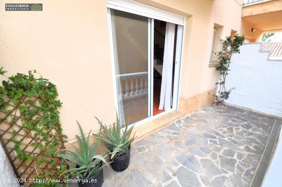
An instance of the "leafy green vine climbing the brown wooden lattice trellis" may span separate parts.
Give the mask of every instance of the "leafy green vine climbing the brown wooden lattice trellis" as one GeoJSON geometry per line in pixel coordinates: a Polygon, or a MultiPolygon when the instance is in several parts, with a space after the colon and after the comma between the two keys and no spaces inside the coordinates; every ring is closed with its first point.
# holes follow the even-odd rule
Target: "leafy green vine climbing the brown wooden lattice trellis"
{"type": "MultiPolygon", "coordinates": [[[[36,70],[29,71],[28,75],[17,73],[10,77],[5,73],[3,67],[0,68],[0,74],[5,77],[0,86],[0,111],[5,117],[0,118],[0,125],[6,122],[11,126],[8,129],[11,129],[12,135],[8,141],[14,144],[16,158],[23,167],[30,165],[34,168],[34,171],[28,171],[32,171],[37,179],[57,178],[66,166],[53,156],[55,151],[64,148],[67,136],[62,133],[59,122],[57,109],[62,102],[56,99],[56,86],[36,70]],[[18,121],[21,121],[20,130],[15,128],[19,126],[18,121]],[[21,132],[24,135],[20,136],[21,132]],[[29,138],[28,141],[26,138],[29,138]],[[33,151],[27,151],[27,146],[32,147],[33,151]]],[[[61,186],[53,182],[33,185],[61,186]]]]}

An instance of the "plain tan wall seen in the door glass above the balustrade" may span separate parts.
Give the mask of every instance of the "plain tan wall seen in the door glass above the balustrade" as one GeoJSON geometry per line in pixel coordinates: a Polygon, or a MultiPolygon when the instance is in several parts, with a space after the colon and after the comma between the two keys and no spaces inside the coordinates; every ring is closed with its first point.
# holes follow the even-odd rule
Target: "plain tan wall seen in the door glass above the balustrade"
{"type": "Polygon", "coordinates": [[[147,72],[148,18],[134,14],[117,14],[113,20],[119,74],[147,72]]]}

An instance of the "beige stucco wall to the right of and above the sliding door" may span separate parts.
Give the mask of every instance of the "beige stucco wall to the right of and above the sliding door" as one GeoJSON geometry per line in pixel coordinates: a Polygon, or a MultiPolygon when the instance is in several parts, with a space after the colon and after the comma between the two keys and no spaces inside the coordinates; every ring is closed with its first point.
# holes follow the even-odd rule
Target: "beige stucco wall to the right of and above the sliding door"
{"type": "Polygon", "coordinates": [[[232,29],[236,30],[238,34],[244,34],[257,40],[261,34],[258,29],[252,33],[251,28],[254,26],[241,19],[243,5],[241,1],[138,1],[184,16],[192,15],[186,18],[184,36],[180,82],[180,96],[183,98],[192,97],[215,87],[217,74],[214,68],[208,67],[214,23],[223,26],[222,37],[230,35],[232,29]]]}

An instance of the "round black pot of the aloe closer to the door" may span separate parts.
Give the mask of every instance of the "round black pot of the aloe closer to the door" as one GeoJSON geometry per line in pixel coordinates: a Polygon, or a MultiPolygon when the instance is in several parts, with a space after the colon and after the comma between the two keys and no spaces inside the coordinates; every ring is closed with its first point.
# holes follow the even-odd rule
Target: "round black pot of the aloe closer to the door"
{"type": "MultiPolygon", "coordinates": [[[[111,158],[110,161],[112,161],[111,158]]],[[[130,148],[126,154],[122,156],[114,157],[113,162],[111,162],[111,167],[116,172],[122,172],[128,168],[129,161],[130,161],[130,148]]]]}

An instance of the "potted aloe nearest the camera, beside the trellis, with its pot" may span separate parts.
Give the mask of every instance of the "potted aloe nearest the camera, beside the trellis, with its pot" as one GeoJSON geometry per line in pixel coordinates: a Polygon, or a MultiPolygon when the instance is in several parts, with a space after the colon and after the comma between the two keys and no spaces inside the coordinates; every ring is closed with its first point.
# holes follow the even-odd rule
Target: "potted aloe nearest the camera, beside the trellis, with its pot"
{"type": "MultiPolygon", "coordinates": [[[[77,121],[78,123],[78,121],[77,121]]],[[[57,157],[63,158],[69,166],[69,170],[65,171],[61,175],[75,175],[77,179],[83,179],[78,181],[79,187],[100,187],[103,184],[103,167],[108,165],[106,161],[106,155],[104,153],[97,155],[97,150],[99,147],[100,139],[97,139],[95,143],[89,145],[89,135],[87,140],[85,135],[78,123],[80,135],[76,135],[78,141],[78,148],[71,144],[75,151],[62,149],[57,152],[62,152],[62,154],[57,154],[57,157]],[[85,182],[87,179],[88,182],[85,182]]],[[[101,131],[99,132],[100,136],[101,131]]],[[[57,153],[56,152],[56,153],[57,153]]]]}

